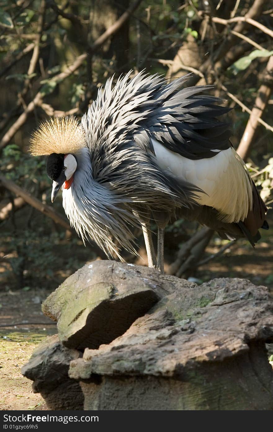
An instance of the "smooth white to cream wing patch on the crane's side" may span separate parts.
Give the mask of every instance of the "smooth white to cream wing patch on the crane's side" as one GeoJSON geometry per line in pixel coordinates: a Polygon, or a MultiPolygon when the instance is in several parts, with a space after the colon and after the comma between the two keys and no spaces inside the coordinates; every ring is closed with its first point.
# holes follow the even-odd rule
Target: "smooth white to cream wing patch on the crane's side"
{"type": "Polygon", "coordinates": [[[215,208],[224,222],[244,220],[252,209],[252,188],[241,157],[233,148],[212,158],[187,159],[152,139],[158,165],[173,175],[200,187],[197,202],[215,208]]]}

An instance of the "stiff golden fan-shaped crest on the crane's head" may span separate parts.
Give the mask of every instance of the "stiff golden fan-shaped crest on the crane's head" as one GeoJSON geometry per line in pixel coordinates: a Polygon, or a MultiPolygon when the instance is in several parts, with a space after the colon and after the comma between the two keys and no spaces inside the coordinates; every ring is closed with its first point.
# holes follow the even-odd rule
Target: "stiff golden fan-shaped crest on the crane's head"
{"type": "Polygon", "coordinates": [[[85,133],[73,117],[50,118],[32,135],[29,151],[33,156],[69,154],[85,147],[85,133]]]}

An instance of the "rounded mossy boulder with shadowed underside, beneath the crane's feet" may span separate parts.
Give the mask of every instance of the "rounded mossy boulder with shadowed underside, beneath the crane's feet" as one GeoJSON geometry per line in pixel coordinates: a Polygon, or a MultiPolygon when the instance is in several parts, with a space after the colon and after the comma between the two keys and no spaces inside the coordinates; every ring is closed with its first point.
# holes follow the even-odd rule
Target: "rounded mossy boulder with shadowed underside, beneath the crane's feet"
{"type": "MultiPolygon", "coordinates": [[[[98,348],[122,335],[163,295],[173,292],[172,276],[116,261],[94,261],[69,276],[43,303],[58,321],[60,340],[69,348],[98,348]]],[[[185,281],[184,281],[185,283],[185,281]]]]}

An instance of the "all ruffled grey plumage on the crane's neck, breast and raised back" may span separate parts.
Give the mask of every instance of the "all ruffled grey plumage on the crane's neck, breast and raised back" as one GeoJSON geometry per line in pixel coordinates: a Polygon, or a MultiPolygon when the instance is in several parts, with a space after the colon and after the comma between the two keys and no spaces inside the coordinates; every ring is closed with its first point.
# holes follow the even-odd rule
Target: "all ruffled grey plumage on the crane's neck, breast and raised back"
{"type": "Polygon", "coordinates": [[[136,253],[132,227],[140,227],[140,221],[135,211],[142,220],[152,211],[171,214],[196,205],[195,192],[200,191],[159,168],[151,138],[164,139],[169,149],[179,148],[179,154],[195,159],[204,152],[214,156],[211,149],[229,148],[230,134],[227,124],[213,118],[227,111],[214,105],[219,99],[197,96],[210,86],[178,91],[186,77],[166,84],[156,75],[142,72],[131,80],[129,75],[119,77],[113,88],[113,77],[109,79],[82,117],[91,165],[75,173],[75,208],[67,210],[64,200],[67,216],[82,238],[94,239],[107,254],[116,252],[119,257],[120,246],[136,253]]]}

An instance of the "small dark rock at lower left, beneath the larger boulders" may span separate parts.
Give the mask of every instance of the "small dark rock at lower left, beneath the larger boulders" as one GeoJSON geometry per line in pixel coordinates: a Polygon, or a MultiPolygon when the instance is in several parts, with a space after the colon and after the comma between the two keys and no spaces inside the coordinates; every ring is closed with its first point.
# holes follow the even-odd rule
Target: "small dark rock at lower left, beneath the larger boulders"
{"type": "Polygon", "coordinates": [[[41,342],[22,367],[22,375],[33,381],[34,393],[41,393],[50,410],[83,409],[81,387],[68,376],[70,361],[80,356],[82,353],[63,346],[55,334],[41,342]]]}

